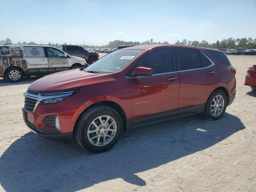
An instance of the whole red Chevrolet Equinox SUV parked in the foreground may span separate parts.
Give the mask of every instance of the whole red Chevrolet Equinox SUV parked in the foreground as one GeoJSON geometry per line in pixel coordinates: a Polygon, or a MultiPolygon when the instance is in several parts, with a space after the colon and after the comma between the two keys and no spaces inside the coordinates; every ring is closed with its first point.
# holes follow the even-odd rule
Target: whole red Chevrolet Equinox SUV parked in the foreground
{"type": "Polygon", "coordinates": [[[24,93],[30,130],[92,152],[123,130],[192,114],[218,120],[236,94],[236,70],[219,50],[148,45],[117,50],[87,68],[51,74],[24,93]]]}

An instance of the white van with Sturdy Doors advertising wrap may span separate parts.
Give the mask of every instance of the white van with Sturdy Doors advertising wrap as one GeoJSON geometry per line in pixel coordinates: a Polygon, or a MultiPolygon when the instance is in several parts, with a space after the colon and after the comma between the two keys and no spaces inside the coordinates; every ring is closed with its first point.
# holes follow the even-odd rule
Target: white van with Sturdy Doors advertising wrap
{"type": "Polygon", "coordinates": [[[10,82],[87,66],[83,58],[52,46],[0,45],[0,77],[10,82]]]}

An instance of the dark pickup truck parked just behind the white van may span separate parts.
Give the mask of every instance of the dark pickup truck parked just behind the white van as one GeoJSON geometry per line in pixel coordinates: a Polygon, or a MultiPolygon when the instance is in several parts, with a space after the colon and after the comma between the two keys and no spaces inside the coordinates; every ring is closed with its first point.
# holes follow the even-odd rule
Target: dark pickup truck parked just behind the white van
{"type": "Polygon", "coordinates": [[[99,59],[99,54],[96,52],[89,52],[78,45],[61,45],[60,49],[70,55],[84,58],[88,64],[92,64],[99,59]]]}

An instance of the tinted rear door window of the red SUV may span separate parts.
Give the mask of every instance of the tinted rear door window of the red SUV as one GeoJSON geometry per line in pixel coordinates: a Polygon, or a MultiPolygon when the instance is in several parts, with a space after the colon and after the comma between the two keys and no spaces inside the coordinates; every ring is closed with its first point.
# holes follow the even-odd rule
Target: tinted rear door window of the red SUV
{"type": "Polygon", "coordinates": [[[198,50],[176,48],[175,52],[179,71],[202,68],[198,50]]]}

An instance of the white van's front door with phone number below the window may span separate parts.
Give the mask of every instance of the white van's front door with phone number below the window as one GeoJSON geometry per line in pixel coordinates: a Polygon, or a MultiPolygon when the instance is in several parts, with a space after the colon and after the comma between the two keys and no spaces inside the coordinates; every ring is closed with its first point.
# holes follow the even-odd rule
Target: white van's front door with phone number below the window
{"type": "Polygon", "coordinates": [[[48,60],[48,73],[66,71],[70,69],[68,58],[64,56],[64,52],[54,47],[45,47],[48,60]]]}

